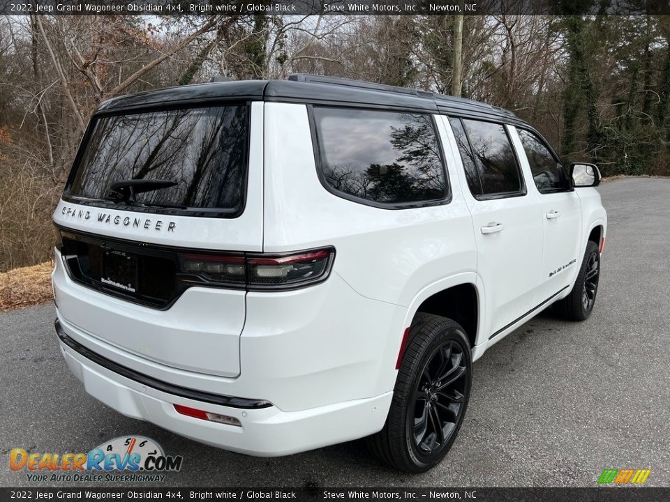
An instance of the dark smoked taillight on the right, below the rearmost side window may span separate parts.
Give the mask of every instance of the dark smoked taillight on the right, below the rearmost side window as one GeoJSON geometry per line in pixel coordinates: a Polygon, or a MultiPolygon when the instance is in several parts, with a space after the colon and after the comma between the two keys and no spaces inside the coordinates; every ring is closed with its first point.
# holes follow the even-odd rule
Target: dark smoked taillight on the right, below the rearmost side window
{"type": "Polygon", "coordinates": [[[334,258],[334,248],[244,256],[179,253],[179,271],[212,285],[292,289],[325,280],[334,258]]]}

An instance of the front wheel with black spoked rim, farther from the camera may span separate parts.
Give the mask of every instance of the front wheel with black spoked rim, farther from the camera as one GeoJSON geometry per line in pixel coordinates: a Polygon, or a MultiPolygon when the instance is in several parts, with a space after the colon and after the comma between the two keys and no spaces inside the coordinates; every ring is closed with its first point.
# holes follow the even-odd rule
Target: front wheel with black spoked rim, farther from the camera
{"type": "Polygon", "coordinates": [[[600,280],[600,250],[593,241],[586,243],[577,280],[570,294],[556,302],[555,312],[569,321],[585,321],[593,312],[600,280]]]}

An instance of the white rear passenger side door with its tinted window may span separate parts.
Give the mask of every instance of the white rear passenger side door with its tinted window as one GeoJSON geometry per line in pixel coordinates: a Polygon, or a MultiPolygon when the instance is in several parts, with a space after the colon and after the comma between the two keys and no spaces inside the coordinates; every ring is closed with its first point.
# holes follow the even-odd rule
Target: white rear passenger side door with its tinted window
{"type": "Polygon", "coordinates": [[[486,333],[493,338],[533,308],[542,264],[542,215],[526,190],[506,126],[450,118],[452,149],[477,240],[486,333]],[[467,188],[465,188],[467,186],[467,188]]]}

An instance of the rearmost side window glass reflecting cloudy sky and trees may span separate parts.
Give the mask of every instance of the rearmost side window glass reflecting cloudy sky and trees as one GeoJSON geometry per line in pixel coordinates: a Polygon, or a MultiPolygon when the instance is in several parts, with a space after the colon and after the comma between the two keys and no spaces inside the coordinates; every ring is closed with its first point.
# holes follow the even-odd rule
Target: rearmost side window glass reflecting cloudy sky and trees
{"type": "Polygon", "coordinates": [[[313,107],[322,181],[345,198],[412,206],[447,197],[430,115],[313,107]]]}

